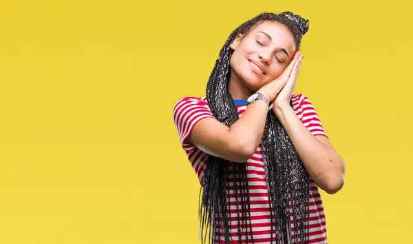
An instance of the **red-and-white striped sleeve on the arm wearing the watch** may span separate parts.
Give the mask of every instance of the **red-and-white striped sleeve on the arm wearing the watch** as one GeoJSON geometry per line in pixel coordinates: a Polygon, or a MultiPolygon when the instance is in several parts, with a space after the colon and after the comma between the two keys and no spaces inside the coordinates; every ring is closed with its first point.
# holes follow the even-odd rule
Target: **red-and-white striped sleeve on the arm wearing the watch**
{"type": "Polygon", "coordinates": [[[215,118],[209,109],[207,101],[195,97],[184,97],[180,99],[173,108],[173,121],[180,143],[185,151],[192,150],[195,146],[185,143],[185,139],[191,134],[196,123],[205,118],[215,118]]]}

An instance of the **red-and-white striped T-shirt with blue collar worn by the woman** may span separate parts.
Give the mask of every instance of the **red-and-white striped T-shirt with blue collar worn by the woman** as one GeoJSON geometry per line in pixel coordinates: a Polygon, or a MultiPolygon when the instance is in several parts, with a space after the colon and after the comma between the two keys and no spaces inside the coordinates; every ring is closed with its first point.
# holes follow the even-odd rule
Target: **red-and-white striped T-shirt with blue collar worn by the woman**
{"type": "MultiPolygon", "coordinates": [[[[297,114],[301,122],[306,125],[306,128],[308,128],[313,135],[327,136],[321,125],[319,116],[312,103],[308,100],[308,97],[303,94],[294,94],[292,100],[295,114],[297,114]]],[[[238,114],[242,116],[246,110],[246,101],[234,100],[234,102],[238,114]]],[[[205,96],[201,98],[192,96],[184,97],[180,99],[173,108],[173,120],[180,136],[182,148],[187,153],[189,162],[191,163],[193,170],[195,170],[201,185],[209,154],[196,148],[193,144],[186,143],[185,139],[187,139],[191,133],[193,126],[204,118],[214,118],[205,96]]],[[[250,196],[251,225],[254,243],[271,243],[269,201],[265,182],[261,144],[258,146],[255,154],[246,161],[246,173],[250,196]]],[[[229,176],[229,178],[231,178],[231,176],[229,176]]],[[[308,243],[327,243],[324,207],[318,187],[312,179],[310,179],[309,191],[310,218],[307,225],[308,243]]],[[[235,211],[234,213],[236,214],[236,206],[233,203],[235,198],[231,197],[231,194],[233,193],[233,190],[229,190],[229,204],[231,205],[231,210],[235,211]]],[[[290,210],[290,212],[292,213],[292,210],[290,210]]],[[[231,243],[245,243],[246,228],[242,228],[242,241],[240,242],[237,221],[231,221],[230,226],[230,234],[233,239],[231,243]]],[[[293,220],[291,221],[291,227],[292,230],[294,230],[293,220]]],[[[249,233],[249,230],[248,235],[248,240],[251,240],[251,233],[249,233]]],[[[221,240],[223,240],[223,237],[221,240]]],[[[273,234],[273,241],[275,242],[275,234],[273,234]]],[[[215,241],[215,243],[220,243],[220,241],[215,241]]],[[[221,241],[221,243],[224,242],[221,241]]]]}

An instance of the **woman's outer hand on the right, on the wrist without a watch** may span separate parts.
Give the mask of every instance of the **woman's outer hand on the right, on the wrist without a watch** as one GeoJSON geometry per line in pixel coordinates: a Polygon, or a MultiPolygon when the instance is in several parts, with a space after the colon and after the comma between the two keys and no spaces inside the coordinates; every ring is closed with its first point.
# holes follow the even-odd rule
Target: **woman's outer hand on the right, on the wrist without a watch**
{"type": "Polygon", "coordinates": [[[273,102],[273,112],[279,108],[290,106],[291,96],[293,96],[296,84],[295,81],[297,81],[299,68],[301,67],[301,61],[303,58],[304,56],[299,55],[298,60],[294,63],[294,67],[291,71],[290,77],[288,77],[288,81],[284,85],[284,88],[282,88],[281,92],[277,94],[277,97],[273,102]]]}

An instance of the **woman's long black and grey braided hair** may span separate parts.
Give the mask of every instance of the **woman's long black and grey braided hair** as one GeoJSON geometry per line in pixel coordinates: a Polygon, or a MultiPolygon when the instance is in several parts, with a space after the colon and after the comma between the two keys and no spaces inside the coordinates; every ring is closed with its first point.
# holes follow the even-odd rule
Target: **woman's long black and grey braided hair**
{"type": "MultiPolygon", "coordinates": [[[[293,33],[297,50],[301,37],[308,31],[308,20],[282,12],[264,12],[242,23],[224,43],[207,84],[207,102],[218,121],[230,127],[239,119],[237,108],[229,93],[231,77],[230,45],[237,34],[247,34],[264,21],[277,21],[293,33]]],[[[290,102],[290,105],[292,103],[290,102]]],[[[264,170],[271,213],[271,240],[275,232],[276,243],[305,243],[308,221],[309,176],[286,130],[270,110],[262,136],[264,170]],[[293,210],[294,230],[291,230],[290,208],[293,210]]],[[[200,225],[202,243],[222,238],[230,243],[231,221],[238,223],[238,237],[246,230],[246,243],[254,243],[250,216],[250,199],[246,176],[246,163],[235,163],[209,155],[204,169],[200,191],[200,225]],[[203,188],[203,191],[202,191],[203,188]],[[229,189],[233,190],[230,195],[229,189]],[[235,199],[236,216],[231,215],[229,199],[235,199]],[[249,233],[248,234],[248,229],[249,233]]]]}

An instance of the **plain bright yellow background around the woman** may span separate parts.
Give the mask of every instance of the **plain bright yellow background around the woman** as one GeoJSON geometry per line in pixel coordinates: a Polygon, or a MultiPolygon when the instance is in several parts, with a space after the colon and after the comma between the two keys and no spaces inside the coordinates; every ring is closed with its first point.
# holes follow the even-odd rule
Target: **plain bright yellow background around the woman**
{"type": "Polygon", "coordinates": [[[172,109],[229,34],[310,19],[296,93],[347,163],[328,241],[413,243],[409,1],[0,1],[0,243],[198,243],[172,109]]]}

